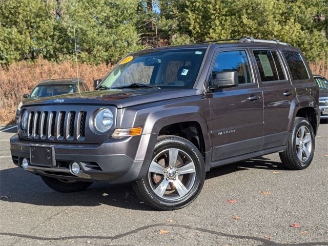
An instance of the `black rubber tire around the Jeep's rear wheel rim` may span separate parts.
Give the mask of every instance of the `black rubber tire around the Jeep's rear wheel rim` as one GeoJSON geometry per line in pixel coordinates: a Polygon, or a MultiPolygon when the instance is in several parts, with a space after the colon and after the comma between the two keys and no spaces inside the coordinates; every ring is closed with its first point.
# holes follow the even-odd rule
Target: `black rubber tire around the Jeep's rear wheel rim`
{"type": "MultiPolygon", "coordinates": [[[[301,146],[305,146],[306,144],[303,144],[301,146]]],[[[282,165],[285,168],[291,169],[291,170],[302,170],[310,166],[311,161],[314,156],[314,149],[315,149],[315,138],[314,138],[314,131],[313,128],[308,121],[308,119],[303,117],[296,117],[294,121],[294,126],[292,133],[290,134],[287,149],[284,152],[279,153],[280,159],[282,161],[282,165]],[[305,127],[309,130],[309,136],[311,136],[311,151],[310,155],[307,157],[307,159],[300,159],[298,157],[298,151],[299,151],[299,144],[296,143],[297,134],[299,133],[300,129],[302,127],[305,127]]],[[[304,154],[302,150],[301,156],[304,154]]]]}

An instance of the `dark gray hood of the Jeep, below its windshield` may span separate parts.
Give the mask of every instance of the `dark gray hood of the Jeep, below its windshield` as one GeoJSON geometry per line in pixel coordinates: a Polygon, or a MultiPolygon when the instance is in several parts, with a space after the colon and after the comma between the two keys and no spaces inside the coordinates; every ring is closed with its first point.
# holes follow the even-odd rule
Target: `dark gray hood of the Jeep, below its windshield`
{"type": "Polygon", "coordinates": [[[125,108],[139,104],[152,103],[154,101],[175,99],[197,94],[198,90],[196,89],[112,89],[63,94],[58,96],[45,97],[37,100],[29,100],[26,103],[24,102],[24,106],[50,104],[88,104],[114,105],[117,108],[125,108]]]}

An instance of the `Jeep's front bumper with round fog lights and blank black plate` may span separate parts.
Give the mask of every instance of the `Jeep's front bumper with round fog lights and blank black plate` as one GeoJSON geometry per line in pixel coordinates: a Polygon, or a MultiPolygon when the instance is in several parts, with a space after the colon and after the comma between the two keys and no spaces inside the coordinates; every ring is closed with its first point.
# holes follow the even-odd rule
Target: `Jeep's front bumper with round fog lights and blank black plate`
{"type": "Polygon", "coordinates": [[[52,144],[22,141],[16,134],[10,139],[10,150],[14,164],[34,174],[65,180],[126,183],[140,179],[147,172],[149,165],[144,162],[150,163],[151,156],[147,157],[146,153],[151,139],[156,141],[156,136],[108,139],[99,145],[52,144]]]}

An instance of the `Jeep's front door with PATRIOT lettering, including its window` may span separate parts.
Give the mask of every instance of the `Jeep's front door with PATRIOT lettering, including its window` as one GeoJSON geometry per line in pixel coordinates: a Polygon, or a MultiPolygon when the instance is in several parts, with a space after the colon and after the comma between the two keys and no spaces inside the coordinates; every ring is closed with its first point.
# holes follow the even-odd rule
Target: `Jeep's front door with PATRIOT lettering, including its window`
{"type": "MultiPolygon", "coordinates": [[[[237,71],[237,87],[209,93],[212,161],[259,151],[263,138],[263,96],[247,49],[219,49],[212,74],[237,71]]],[[[212,75],[213,76],[213,75],[212,75]]]]}

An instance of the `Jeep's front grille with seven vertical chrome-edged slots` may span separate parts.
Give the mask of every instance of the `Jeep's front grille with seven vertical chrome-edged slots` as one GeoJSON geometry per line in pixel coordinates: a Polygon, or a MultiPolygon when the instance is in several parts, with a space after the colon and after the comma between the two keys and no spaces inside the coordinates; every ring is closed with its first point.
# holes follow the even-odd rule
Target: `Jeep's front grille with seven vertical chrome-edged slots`
{"type": "Polygon", "coordinates": [[[48,140],[84,140],[86,111],[30,111],[27,137],[48,140]]]}

